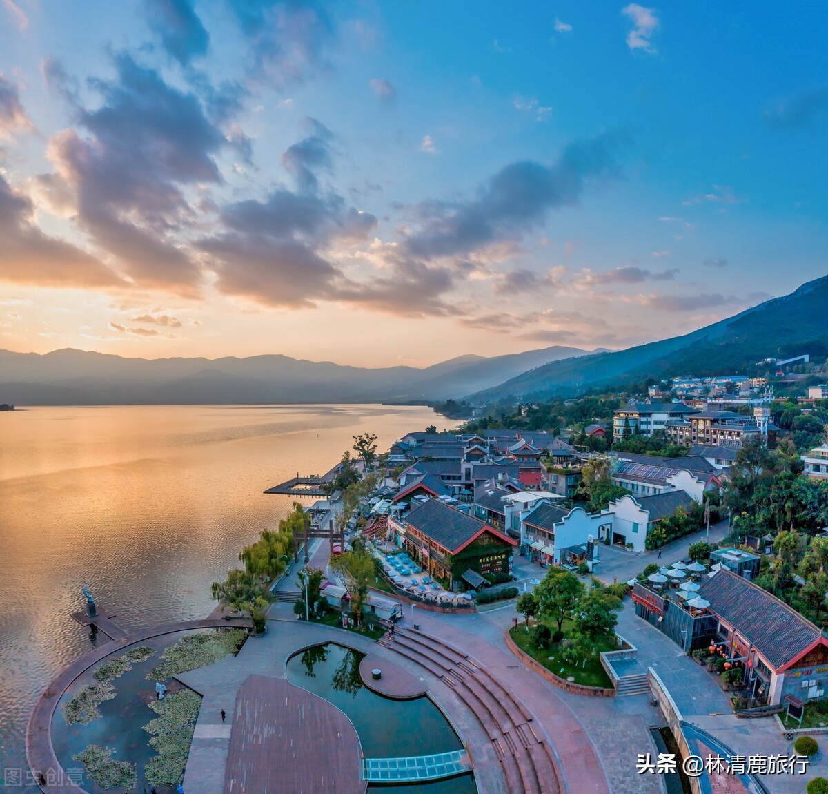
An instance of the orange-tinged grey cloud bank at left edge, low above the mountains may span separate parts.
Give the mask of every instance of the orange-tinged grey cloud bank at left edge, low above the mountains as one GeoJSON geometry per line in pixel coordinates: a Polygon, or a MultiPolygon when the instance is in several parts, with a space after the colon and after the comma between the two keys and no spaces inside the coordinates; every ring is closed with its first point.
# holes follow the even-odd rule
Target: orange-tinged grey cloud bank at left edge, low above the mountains
{"type": "Polygon", "coordinates": [[[90,254],[45,235],[28,196],[0,175],[0,280],[39,287],[115,287],[123,279],[90,254]]]}

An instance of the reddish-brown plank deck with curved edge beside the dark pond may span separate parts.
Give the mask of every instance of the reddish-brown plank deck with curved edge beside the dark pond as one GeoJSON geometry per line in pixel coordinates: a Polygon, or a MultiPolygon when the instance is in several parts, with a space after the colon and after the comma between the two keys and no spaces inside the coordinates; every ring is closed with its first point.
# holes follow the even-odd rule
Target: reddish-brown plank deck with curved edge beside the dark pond
{"type": "Polygon", "coordinates": [[[327,700],[266,675],[239,688],[225,794],[363,794],[362,767],[354,725],[327,700]]]}

